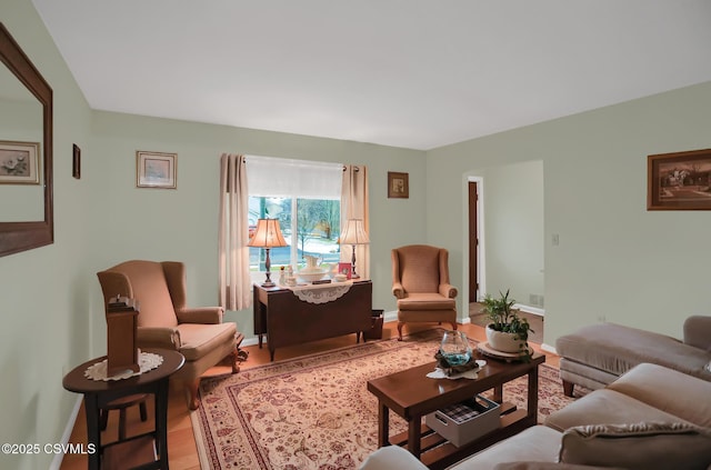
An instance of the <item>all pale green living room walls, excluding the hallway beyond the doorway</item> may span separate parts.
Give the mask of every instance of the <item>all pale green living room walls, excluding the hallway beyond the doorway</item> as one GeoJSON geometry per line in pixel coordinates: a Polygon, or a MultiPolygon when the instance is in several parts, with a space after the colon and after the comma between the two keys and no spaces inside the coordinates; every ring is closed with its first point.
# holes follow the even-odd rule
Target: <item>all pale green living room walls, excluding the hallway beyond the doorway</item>
{"type": "MultiPolygon", "coordinates": [[[[53,244],[0,258],[2,442],[60,440],[77,400],[62,377],[106,348],[98,270],[128,258],[183,260],[190,303],[216,303],[223,151],[368,166],[375,308],[394,309],[395,246],[447,247],[463,286],[467,176],[539,160],[547,341],[601,316],[680,336],[683,317],[708,312],[708,213],[647,212],[644,201],[647,154],[711,147],[711,83],[419,152],[92,112],[31,1],[3,0],[0,18],[54,92],[56,214],[53,244]],[[82,150],[80,180],[72,143],[82,150]],[[178,189],[136,188],[136,150],[177,152],[178,189]],[[388,171],[410,174],[410,199],[387,198],[388,171]]],[[[228,319],[251,333],[249,311],[228,319]]],[[[0,456],[0,467],[44,469],[52,457],[0,456]]]]}

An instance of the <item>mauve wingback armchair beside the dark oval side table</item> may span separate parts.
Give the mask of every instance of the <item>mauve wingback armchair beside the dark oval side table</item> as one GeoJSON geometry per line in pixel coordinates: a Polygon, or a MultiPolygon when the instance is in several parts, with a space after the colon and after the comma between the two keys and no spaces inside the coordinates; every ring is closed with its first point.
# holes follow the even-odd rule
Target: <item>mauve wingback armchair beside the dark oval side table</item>
{"type": "Polygon", "coordinates": [[[236,323],[222,322],[221,307],[187,307],[182,262],[126,261],[97,276],[104,307],[117,296],[138,300],[139,348],[171,349],[184,356],[183,367],[171,379],[184,383],[188,408],[198,408],[200,376],[208,369],[230,357],[232,373],[239,372],[237,348],[244,336],[236,323]]]}

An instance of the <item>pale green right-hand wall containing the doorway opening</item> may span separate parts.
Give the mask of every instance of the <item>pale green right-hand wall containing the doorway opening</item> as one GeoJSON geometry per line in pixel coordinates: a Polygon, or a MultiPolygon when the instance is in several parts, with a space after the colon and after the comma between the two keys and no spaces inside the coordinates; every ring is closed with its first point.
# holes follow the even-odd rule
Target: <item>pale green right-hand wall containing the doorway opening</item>
{"type": "Polygon", "coordinates": [[[543,161],[545,343],[603,318],[680,338],[687,316],[711,310],[711,218],[647,211],[647,156],[709,148],[710,128],[707,82],[431,150],[428,240],[452,251],[464,286],[465,176],[543,161]]]}

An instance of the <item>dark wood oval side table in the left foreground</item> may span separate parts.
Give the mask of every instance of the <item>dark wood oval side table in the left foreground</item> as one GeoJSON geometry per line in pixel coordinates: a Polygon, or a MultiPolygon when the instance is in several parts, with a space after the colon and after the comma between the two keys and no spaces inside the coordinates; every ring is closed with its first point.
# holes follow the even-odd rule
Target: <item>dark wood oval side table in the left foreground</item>
{"type": "Polygon", "coordinates": [[[89,452],[89,469],[107,469],[108,462],[120,456],[122,463],[120,467],[127,468],[126,460],[133,453],[140,453],[150,449],[151,458],[154,458],[153,450],[158,458],[144,464],[141,469],[163,469],[168,470],[168,379],[180,369],[186,361],[178,351],[166,349],[144,349],[146,352],[153,352],[163,357],[163,362],[156,369],[139,376],[122,380],[92,380],[84,377],[84,371],[97,362],[106,359],[92,359],[76,367],[64,376],[62,384],[64,389],[83,393],[84,407],[87,411],[87,433],[89,443],[94,446],[94,451],[89,452]],[[109,402],[136,393],[151,393],[156,397],[156,422],[153,431],[140,436],[132,436],[128,439],[118,440],[108,444],[101,443],[100,412],[109,402]]]}

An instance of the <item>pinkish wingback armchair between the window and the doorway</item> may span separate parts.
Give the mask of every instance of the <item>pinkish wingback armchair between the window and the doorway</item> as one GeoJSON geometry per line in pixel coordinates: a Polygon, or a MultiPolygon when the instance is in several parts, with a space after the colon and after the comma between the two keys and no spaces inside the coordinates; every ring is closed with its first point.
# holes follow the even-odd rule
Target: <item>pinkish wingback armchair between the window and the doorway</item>
{"type": "Polygon", "coordinates": [[[457,329],[457,289],[449,283],[449,252],[427,244],[395,248],[392,294],[398,298],[398,339],[408,322],[447,322],[457,329]]]}

